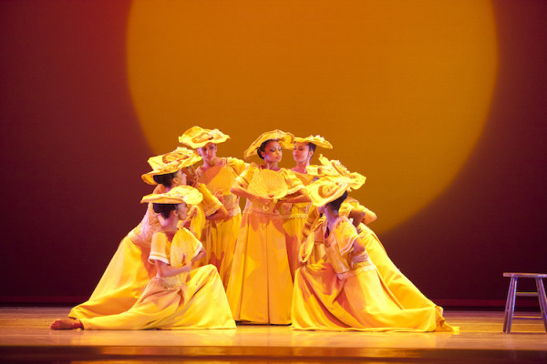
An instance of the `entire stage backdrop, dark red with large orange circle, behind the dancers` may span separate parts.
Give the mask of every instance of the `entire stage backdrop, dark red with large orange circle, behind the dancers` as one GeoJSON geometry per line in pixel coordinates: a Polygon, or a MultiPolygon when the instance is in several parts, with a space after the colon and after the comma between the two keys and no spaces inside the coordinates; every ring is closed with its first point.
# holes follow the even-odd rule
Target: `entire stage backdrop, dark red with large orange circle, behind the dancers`
{"type": "Polygon", "coordinates": [[[502,272],[547,270],[546,16],[542,0],[3,1],[0,303],[87,298],[145,211],[148,157],[198,125],[232,136],[220,156],[274,128],[325,136],[316,154],[367,177],[352,196],[418,288],[502,305],[502,272]]]}

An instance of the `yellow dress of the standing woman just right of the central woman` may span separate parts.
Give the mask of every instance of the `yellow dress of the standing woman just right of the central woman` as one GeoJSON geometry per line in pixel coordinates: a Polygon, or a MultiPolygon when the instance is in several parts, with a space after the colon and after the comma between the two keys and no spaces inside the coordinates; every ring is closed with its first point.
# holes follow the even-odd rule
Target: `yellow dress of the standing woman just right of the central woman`
{"type": "MultiPolygon", "coordinates": [[[[302,181],[304,186],[309,185],[314,179],[314,177],[310,175],[298,172],[293,173],[294,176],[302,181]]],[[[306,217],[308,216],[312,204],[310,202],[300,202],[287,205],[287,207],[289,207],[288,210],[285,209],[284,205],[281,206],[281,217],[283,218],[289,267],[291,268],[291,275],[294,278],[296,269],[300,267],[300,264],[298,263],[298,252],[300,251],[300,245],[302,243],[306,217]]]]}

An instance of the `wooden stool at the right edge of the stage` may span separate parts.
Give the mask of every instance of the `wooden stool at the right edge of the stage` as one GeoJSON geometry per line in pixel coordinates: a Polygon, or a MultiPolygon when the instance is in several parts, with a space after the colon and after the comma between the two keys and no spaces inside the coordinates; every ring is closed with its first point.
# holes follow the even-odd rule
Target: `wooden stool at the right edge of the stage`
{"type": "MultiPolygon", "coordinates": [[[[526,319],[543,319],[543,325],[547,332],[547,298],[545,298],[545,288],[543,287],[542,278],[547,278],[547,273],[503,273],[503,277],[511,277],[511,283],[509,285],[509,292],[507,293],[507,302],[505,303],[505,317],[503,319],[503,332],[511,333],[511,323],[515,311],[515,298],[517,296],[523,297],[537,297],[540,301],[540,309],[542,310],[542,317],[532,317],[526,319]],[[517,278],[535,278],[536,292],[518,292],[517,291],[517,278]]],[[[515,319],[523,319],[515,316],[515,319]]]]}

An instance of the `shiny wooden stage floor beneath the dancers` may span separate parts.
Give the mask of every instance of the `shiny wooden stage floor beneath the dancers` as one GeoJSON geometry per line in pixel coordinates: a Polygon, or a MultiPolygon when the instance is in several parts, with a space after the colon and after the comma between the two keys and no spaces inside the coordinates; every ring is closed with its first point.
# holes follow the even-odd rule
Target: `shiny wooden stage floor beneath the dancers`
{"type": "Polygon", "coordinates": [[[502,311],[446,310],[452,333],[298,331],[243,325],[233,330],[54,331],[69,308],[0,308],[0,361],[7,363],[547,363],[541,320],[502,311]]]}

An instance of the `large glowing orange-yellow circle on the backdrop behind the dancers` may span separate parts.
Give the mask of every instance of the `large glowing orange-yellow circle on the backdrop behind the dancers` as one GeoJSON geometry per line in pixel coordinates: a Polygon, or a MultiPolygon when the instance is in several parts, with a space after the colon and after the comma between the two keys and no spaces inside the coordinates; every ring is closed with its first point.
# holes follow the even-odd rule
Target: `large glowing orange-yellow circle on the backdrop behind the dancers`
{"type": "Polygon", "coordinates": [[[219,155],[233,157],[266,130],[320,134],[334,149],[319,153],[367,177],[353,196],[381,232],[469,157],[497,45],[490,1],[135,0],[128,69],[154,152],[194,125],[231,135],[219,155]]]}

